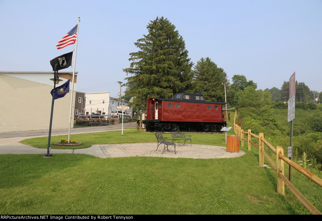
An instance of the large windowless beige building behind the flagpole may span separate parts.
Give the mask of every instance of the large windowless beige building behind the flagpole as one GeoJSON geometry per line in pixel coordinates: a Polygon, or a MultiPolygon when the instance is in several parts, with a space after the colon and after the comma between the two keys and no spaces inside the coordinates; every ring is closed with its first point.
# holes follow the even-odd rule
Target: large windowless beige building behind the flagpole
{"type": "MultiPolygon", "coordinates": [[[[77,72],[78,73],[78,72],[77,72]]],[[[74,90],[76,90],[76,78],[74,90]]],[[[59,85],[72,78],[72,72],[58,72],[59,85]]],[[[0,71],[0,133],[48,130],[52,106],[53,71],[0,71]]],[[[71,79],[72,81],[72,79],[71,79]]],[[[70,90],[72,85],[70,84],[70,90]]],[[[75,93],[73,93],[73,101],[75,93]]],[[[52,129],[69,128],[71,93],[56,99],[52,129]]],[[[72,109],[73,119],[74,108],[72,109]]],[[[71,125],[73,127],[73,125],[71,125]]]]}

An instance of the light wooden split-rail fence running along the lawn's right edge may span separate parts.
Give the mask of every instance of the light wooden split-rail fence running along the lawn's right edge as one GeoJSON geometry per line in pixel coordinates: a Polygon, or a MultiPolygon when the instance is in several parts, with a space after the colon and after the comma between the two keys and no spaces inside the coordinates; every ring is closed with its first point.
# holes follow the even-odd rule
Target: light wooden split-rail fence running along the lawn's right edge
{"type": "Polygon", "coordinates": [[[260,133],[259,135],[251,133],[251,129],[248,129],[247,132],[244,131],[238,124],[235,124],[237,116],[237,111],[234,115],[234,132],[236,135],[240,136],[241,145],[244,147],[244,141],[248,143],[248,150],[251,151],[251,145],[256,147],[259,150],[259,163],[261,166],[264,166],[264,157],[270,162],[271,166],[276,170],[277,173],[277,192],[285,195],[285,185],[293,192],[293,194],[303,203],[308,210],[315,215],[322,215],[320,211],[317,210],[293,185],[292,183],[284,176],[284,162],[291,165],[294,169],[298,170],[301,174],[306,176],[308,179],[312,180],[318,186],[322,187],[322,179],[311,173],[310,171],[304,169],[294,161],[289,160],[284,156],[284,151],[281,146],[277,146],[276,149],[264,139],[264,134],[260,133]],[[247,134],[247,139],[244,138],[247,134]],[[259,141],[257,146],[251,141],[251,137],[255,137],[259,141]],[[267,153],[264,151],[264,144],[276,154],[276,164],[270,159],[267,153]]]}

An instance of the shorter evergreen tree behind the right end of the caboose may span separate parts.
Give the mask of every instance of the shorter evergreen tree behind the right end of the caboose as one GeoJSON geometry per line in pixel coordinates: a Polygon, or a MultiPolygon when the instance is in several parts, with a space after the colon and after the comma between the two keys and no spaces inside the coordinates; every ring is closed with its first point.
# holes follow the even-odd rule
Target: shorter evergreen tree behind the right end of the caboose
{"type": "MultiPolygon", "coordinates": [[[[199,89],[207,101],[225,101],[227,74],[209,58],[201,58],[194,66],[194,91],[199,89]]],[[[193,91],[193,92],[194,92],[193,91]]]]}

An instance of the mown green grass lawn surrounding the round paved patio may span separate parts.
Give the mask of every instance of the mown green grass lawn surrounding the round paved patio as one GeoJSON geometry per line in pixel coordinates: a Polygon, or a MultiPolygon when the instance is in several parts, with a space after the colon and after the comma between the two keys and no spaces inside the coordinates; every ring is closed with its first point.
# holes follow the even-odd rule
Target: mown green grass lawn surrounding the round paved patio
{"type": "MultiPolygon", "coordinates": [[[[224,134],[189,135],[193,143],[225,146],[224,134]]],[[[24,143],[46,148],[46,139],[24,143]]],[[[136,130],[71,139],[83,147],[156,140],[153,133],[136,130]]],[[[287,187],[285,196],[276,193],[276,172],[259,165],[256,148],[241,150],[246,154],[229,159],[0,155],[0,214],[310,214],[287,187]]],[[[296,171],[292,176],[322,211],[322,189],[296,171]]]]}

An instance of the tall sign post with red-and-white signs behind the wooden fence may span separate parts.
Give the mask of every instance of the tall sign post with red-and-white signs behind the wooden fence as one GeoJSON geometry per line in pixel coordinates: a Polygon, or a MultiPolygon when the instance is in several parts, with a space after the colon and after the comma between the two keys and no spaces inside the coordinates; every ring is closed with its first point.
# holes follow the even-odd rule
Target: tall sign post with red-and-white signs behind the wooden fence
{"type": "MultiPolygon", "coordinates": [[[[288,103],[287,122],[291,122],[291,145],[289,147],[290,154],[288,157],[292,160],[292,146],[293,146],[293,120],[295,119],[295,72],[289,78],[289,103],[288,103]]],[[[291,182],[292,166],[289,165],[289,181],[291,182]]]]}

